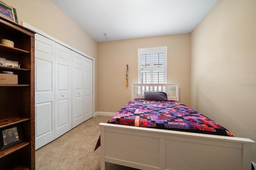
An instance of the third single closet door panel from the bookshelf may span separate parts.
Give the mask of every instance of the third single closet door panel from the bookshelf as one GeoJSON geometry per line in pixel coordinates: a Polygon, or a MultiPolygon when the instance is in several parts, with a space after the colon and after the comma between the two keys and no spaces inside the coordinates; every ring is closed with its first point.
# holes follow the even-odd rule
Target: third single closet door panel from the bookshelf
{"type": "Polygon", "coordinates": [[[72,52],[72,128],[84,122],[84,57],[72,52]]]}

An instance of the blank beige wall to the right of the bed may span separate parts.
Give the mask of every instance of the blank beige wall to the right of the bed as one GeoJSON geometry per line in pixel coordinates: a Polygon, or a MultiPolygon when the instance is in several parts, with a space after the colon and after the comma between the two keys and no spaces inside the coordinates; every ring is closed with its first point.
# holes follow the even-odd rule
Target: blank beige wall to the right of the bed
{"type": "Polygon", "coordinates": [[[255,17],[255,0],[219,0],[191,33],[192,108],[254,141],[255,17]]]}

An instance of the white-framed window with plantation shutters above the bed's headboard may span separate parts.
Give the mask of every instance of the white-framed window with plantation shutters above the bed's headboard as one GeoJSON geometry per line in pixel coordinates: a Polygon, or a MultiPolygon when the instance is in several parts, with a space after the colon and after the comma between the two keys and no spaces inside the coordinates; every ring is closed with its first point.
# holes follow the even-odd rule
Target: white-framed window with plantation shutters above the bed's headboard
{"type": "Polygon", "coordinates": [[[138,83],[167,83],[167,47],[138,49],[138,83]]]}

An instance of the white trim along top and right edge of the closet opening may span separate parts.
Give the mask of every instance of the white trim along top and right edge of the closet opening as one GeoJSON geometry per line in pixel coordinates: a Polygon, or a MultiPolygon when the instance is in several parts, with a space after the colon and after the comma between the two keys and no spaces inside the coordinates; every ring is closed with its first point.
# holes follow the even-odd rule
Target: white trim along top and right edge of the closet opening
{"type": "Polygon", "coordinates": [[[92,87],[93,88],[93,95],[92,95],[93,96],[93,104],[92,104],[93,105],[93,111],[92,112],[93,112],[93,115],[94,115],[94,111],[95,111],[95,96],[94,96],[95,95],[95,79],[94,79],[95,78],[94,77],[95,76],[95,62],[94,62],[94,58],[90,57],[89,55],[87,55],[87,54],[85,54],[85,53],[83,53],[83,52],[81,52],[77,49],[74,49],[70,45],[67,45],[67,44],[63,43],[62,41],[59,41],[58,39],[44,33],[43,31],[40,31],[39,29],[29,25],[28,23],[26,23],[24,21],[22,21],[22,25],[24,27],[27,27],[28,29],[31,29],[31,30],[35,31],[36,33],[48,38],[48,39],[51,39],[52,41],[55,41],[56,43],[59,43],[60,45],[63,45],[65,47],[67,47],[68,49],[70,49],[72,51],[75,51],[76,53],[79,53],[80,55],[83,55],[84,57],[87,57],[88,59],[91,59],[93,61],[93,72],[92,72],[92,76],[93,76],[93,80],[92,80],[93,81],[93,87],[92,87]]]}

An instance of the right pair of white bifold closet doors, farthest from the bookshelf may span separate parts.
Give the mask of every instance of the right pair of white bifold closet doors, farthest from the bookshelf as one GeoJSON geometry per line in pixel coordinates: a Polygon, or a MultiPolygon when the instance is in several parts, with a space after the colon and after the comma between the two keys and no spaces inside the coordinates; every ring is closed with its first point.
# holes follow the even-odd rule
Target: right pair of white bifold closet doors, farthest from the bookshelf
{"type": "Polygon", "coordinates": [[[93,117],[93,61],[72,52],[72,128],[93,117]]]}

